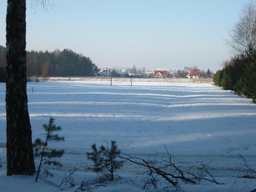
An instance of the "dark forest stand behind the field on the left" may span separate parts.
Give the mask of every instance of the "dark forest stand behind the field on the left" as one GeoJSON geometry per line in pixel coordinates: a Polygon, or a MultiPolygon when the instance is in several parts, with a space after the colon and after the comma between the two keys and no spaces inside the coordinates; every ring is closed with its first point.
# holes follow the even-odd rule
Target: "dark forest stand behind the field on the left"
{"type": "MultiPolygon", "coordinates": [[[[6,48],[0,45],[0,81],[5,81],[6,48]]],[[[93,76],[98,67],[90,57],[71,49],[60,51],[27,51],[27,79],[42,77],[93,76]]]]}

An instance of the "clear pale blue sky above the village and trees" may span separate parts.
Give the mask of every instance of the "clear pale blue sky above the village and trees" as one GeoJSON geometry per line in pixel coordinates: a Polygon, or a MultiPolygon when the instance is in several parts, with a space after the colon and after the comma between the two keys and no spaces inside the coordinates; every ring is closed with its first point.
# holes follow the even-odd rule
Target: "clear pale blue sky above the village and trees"
{"type": "MultiPolygon", "coordinates": [[[[27,0],[27,50],[72,49],[98,67],[184,68],[216,71],[231,54],[227,28],[245,0],[54,0],[37,13],[27,0]]],[[[0,45],[7,0],[0,1],[0,45]]]]}

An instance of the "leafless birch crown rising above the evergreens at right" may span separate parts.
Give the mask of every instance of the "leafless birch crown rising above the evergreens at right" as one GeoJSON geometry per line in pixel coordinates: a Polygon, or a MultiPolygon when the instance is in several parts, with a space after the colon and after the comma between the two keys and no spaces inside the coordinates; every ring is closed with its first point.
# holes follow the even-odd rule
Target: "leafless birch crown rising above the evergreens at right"
{"type": "Polygon", "coordinates": [[[256,46],[256,5],[254,0],[244,4],[239,13],[239,21],[232,29],[228,29],[230,39],[226,40],[231,51],[235,54],[243,54],[256,46]]]}

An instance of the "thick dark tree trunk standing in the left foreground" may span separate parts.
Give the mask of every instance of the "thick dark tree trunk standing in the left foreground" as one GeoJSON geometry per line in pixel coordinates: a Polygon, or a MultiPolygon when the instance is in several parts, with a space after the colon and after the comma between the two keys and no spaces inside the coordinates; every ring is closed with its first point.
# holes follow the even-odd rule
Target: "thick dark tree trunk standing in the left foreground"
{"type": "Polygon", "coordinates": [[[26,90],[26,0],[8,0],[6,15],[7,175],[35,173],[26,90]]]}

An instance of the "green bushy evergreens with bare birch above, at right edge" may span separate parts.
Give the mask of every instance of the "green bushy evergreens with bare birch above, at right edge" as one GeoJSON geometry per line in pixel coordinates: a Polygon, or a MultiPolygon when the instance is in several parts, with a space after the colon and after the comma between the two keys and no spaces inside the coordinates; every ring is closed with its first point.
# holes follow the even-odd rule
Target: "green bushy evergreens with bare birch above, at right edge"
{"type": "Polygon", "coordinates": [[[223,62],[213,78],[217,86],[256,103],[256,4],[249,0],[239,13],[239,20],[228,30],[227,45],[235,56],[223,62]]]}

